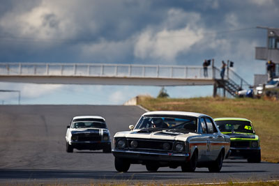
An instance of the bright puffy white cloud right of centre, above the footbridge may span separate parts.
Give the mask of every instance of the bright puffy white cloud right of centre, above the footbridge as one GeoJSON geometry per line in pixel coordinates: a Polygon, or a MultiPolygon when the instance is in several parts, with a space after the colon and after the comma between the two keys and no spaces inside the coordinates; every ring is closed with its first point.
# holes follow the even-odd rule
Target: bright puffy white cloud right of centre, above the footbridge
{"type": "Polygon", "coordinates": [[[140,59],[160,59],[173,61],[180,52],[188,52],[190,47],[204,38],[204,30],[198,27],[200,16],[171,9],[162,29],[148,28],[137,38],[134,55],[140,59]],[[186,26],[175,29],[183,20],[186,26]],[[170,26],[171,25],[171,26],[170,26]],[[170,26],[172,29],[168,29],[170,26]]]}

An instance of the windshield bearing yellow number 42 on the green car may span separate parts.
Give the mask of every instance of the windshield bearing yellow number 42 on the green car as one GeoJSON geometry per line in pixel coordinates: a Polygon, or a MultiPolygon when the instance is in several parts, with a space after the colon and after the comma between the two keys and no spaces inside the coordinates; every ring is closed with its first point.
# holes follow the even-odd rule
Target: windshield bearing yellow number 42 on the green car
{"type": "Polygon", "coordinates": [[[250,121],[215,121],[220,132],[245,132],[255,133],[250,121]]]}

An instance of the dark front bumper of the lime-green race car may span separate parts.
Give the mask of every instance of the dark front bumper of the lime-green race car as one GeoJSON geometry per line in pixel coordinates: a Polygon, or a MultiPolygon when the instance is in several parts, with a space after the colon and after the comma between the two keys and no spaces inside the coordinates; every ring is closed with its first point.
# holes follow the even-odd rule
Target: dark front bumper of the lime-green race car
{"type": "Polygon", "coordinates": [[[252,157],[254,155],[257,155],[261,152],[261,148],[229,148],[231,150],[231,154],[229,155],[229,158],[248,158],[252,157]]]}

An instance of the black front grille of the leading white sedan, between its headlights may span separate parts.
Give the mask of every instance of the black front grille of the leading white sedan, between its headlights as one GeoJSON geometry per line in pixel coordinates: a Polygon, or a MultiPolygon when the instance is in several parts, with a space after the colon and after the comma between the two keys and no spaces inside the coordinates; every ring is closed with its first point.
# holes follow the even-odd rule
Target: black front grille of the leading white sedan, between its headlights
{"type": "Polygon", "coordinates": [[[152,140],[128,139],[128,147],[129,148],[132,148],[130,146],[130,142],[133,141],[133,140],[137,141],[137,149],[164,150],[163,149],[163,144],[164,143],[169,144],[169,150],[172,150],[172,148],[173,148],[173,142],[172,141],[152,141],[152,140]]]}

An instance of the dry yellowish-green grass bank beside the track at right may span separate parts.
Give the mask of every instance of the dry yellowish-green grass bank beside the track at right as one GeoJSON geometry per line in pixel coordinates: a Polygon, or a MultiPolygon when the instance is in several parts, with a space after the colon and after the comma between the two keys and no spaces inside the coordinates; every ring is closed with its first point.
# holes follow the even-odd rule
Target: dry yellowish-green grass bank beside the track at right
{"type": "Polygon", "coordinates": [[[137,104],[149,111],[193,111],[213,118],[248,118],[259,135],[262,161],[279,163],[279,102],[227,98],[149,98],[140,97],[137,104]]]}

